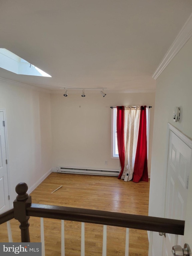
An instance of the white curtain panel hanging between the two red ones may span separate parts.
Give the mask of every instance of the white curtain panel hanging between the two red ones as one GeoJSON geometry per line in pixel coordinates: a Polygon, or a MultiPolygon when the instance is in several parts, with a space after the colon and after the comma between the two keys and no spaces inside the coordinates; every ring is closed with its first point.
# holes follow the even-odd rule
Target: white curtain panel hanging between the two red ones
{"type": "Polygon", "coordinates": [[[133,177],[140,112],[140,106],[125,107],[125,167],[121,177],[124,181],[131,180],[133,177]]]}

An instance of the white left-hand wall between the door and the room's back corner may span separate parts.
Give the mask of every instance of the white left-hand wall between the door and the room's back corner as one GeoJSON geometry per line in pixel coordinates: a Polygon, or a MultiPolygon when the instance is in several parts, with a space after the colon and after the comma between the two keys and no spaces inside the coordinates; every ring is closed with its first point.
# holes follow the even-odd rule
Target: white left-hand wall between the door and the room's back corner
{"type": "Polygon", "coordinates": [[[32,187],[51,166],[50,95],[0,82],[0,108],[5,108],[8,133],[10,201],[15,186],[32,187]]]}

